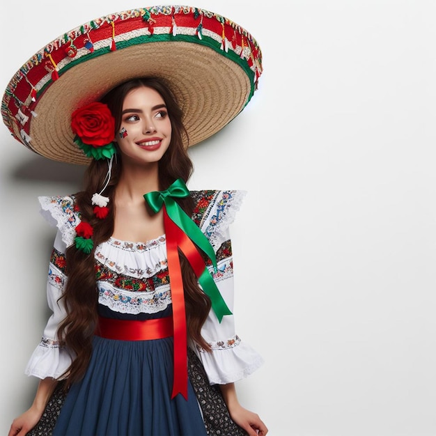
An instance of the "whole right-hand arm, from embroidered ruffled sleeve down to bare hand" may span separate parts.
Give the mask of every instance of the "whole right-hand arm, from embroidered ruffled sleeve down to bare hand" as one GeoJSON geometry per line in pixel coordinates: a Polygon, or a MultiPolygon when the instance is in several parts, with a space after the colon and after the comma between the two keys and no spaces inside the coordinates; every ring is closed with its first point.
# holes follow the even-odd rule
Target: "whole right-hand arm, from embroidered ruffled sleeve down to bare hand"
{"type": "MultiPolygon", "coordinates": [[[[210,195],[210,194],[209,194],[210,195]]],[[[213,203],[205,196],[201,205],[208,207],[208,215],[203,216],[201,230],[208,235],[217,254],[218,271],[213,274],[219,292],[228,308],[233,312],[233,258],[229,226],[233,222],[236,210],[244,192],[219,192],[213,203]]],[[[212,270],[210,271],[212,274],[212,270]]],[[[193,347],[208,375],[210,384],[218,384],[231,419],[243,428],[249,436],[265,436],[267,428],[259,416],[242,407],[236,395],[234,382],[247,377],[255,371],[263,359],[247,343],[241,341],[235,332],[233,315],[224,316],[219,322],[212,311],[205,321],[201,334],[212,352],[193,347]]]]}

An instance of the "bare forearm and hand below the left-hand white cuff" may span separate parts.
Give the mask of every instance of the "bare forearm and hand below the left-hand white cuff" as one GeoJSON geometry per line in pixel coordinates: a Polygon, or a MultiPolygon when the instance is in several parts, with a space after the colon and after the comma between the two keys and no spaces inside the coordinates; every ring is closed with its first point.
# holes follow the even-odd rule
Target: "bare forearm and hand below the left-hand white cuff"
{"type": "Polygon", "coordinates": [[[36,426],[57,383],[58,381],[52,377],[40,380],[31,407],[13,420],[8,436],[24,436],[36,426]]]}

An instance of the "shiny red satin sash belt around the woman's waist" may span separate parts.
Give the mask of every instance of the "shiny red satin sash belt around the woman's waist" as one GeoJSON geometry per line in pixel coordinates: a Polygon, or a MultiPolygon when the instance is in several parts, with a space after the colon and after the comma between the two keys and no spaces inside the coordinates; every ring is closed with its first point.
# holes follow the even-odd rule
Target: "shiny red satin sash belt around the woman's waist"
{"type": "Polygon", "coordinates": [[[150,341],[173,336],[173,317],[156,320],[114,320],[112,318],[98,318],[97,336],[119,341],[150,341]]]}

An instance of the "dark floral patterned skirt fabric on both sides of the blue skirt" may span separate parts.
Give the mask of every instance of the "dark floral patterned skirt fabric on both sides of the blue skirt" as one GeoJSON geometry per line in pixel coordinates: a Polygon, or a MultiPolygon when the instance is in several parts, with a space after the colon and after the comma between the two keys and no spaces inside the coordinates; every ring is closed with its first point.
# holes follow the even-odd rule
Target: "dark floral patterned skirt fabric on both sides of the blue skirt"
{"type": "MultiPolygon", "coordinates": [[[[219,386],[210,385],[201,361],[188,349],[188,374],[203,413],[205,428],[210,436],[247,436],[231,419],[219,386]]],[[[59,382],[50,397],[38,424],[26,436],[51,436],[56,419],[61,413],[66,391],[59,382]]]]}

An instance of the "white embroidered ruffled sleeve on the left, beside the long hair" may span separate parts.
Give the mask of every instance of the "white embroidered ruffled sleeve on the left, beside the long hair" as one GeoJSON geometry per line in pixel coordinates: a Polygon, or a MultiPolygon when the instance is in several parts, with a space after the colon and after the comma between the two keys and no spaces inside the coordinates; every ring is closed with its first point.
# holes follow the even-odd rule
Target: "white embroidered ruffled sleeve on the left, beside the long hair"
{"type": "Polygon", "coordinates": [[[59,342],[57,329],[65,318],[63,294],[67,282],[65,274],[65,251],[75,237],[75,226],[79,218],[73,212],[70,197],[40,197],[41,213],[58,231],[49,261],[47,278],[47,303],[52,311],[42,338],[26,366],[25,373],[39,378],[60,377],[71,364],[70,352],[59,342]]]}

